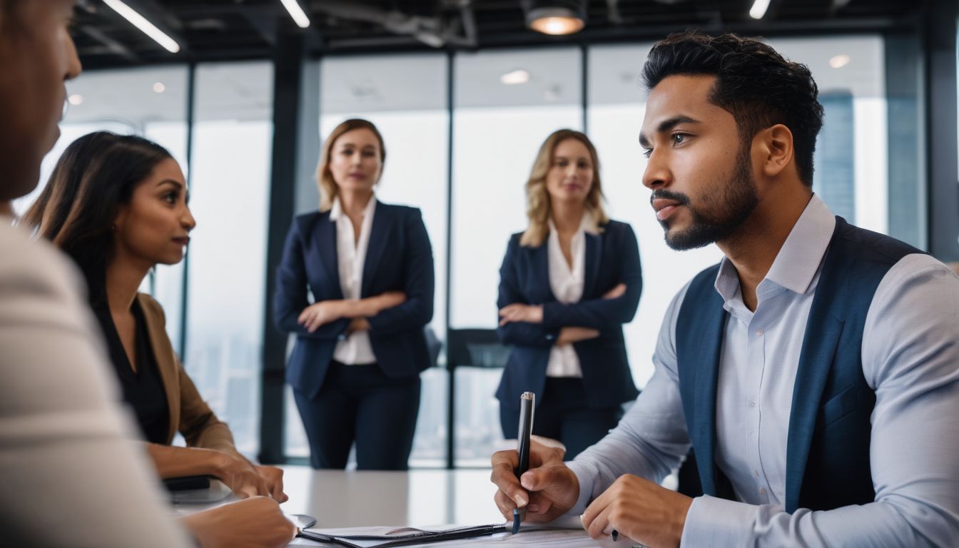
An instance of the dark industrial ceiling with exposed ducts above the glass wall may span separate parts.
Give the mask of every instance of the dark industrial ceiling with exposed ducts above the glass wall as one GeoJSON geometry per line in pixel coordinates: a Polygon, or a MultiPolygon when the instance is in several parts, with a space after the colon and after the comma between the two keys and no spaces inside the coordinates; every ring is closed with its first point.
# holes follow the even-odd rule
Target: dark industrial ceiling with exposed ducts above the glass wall
{"type": "Polygon", "coordinates": [[[73,36],[87,68],[269,58],[278,34],[303,33],[311,55],[550,43],[651,40],[688,28],[763,36],[917,28],[924,0],[772,0],[760,21],[753,0],[588,0],[586,29],[567,37],[526,29],[529,0],[299,0],[312,25],[299,31],[280,0],[125,0],[182,46],[171,54],[107,8],[80,0],[73,36]]]}

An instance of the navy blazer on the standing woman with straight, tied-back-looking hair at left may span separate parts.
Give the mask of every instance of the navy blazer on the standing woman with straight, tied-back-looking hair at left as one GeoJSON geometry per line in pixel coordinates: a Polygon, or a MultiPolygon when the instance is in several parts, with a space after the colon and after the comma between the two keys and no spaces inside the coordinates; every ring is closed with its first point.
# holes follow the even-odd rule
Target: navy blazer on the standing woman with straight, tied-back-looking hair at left
{"type": "MultiPolygon", "coordinates": [[[[402,291],[407,300],[369,321],[369,340],[383,372],[393,378],[430,367],[423,327],[433,319],[433,250],[420,210],[376,203],[363,265],[362,298],[402,291]]],[[[330,212],[293,219],[276,272],[273,317],[277,327],[296,335],[287,381],[310,397],[319,393],[337,343],[346,337],[349,319],[324,323],[313,333],[296,322],[313,302],[343,298],[339,286],[337,224],[330,212]]]]}

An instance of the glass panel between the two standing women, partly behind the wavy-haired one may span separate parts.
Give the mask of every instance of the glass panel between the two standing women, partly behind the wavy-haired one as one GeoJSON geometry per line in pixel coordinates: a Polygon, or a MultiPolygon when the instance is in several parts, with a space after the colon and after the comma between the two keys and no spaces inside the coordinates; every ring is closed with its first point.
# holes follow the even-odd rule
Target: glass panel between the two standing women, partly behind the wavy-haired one
{"type": "MultiPolygon", "coordinates": [[[[526,227],[526,179],[546,137],[582,128],[577,48],[456,56],[453,328],[497,325],[500,264],[526,227]]],[[[502,369],[456,369],[456,466],[488,466],[502,441],[494,398],[502,369]]]]}

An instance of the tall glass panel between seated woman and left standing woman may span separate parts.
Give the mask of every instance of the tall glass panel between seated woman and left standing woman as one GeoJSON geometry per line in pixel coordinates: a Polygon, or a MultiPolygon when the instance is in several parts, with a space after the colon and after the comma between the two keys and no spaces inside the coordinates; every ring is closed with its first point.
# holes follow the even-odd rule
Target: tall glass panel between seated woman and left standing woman
{"type": "Polygon", "coordinates": [[[259,447],[272,81],[268,62],[197,68],[184,365],[249,456],[259,447]]]}

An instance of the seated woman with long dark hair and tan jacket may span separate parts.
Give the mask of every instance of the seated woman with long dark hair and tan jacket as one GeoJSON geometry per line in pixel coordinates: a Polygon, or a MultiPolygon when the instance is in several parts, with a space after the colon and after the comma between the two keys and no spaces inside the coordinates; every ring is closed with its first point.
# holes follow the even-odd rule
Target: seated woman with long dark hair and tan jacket
{"type": "Polygon", "coordinates": [[[90,133],[60,157],[23,224],[80,266],[109,356],[164,478],[211,474],[240,496],[283,502],[283,471],[253,465],[177,359],[163,309],[138,293],[157,264],[182,258],[196,226],[183,173],[147,139],[90,133]],[[171,445],[179,432],[187,447],[171,445]]]}

